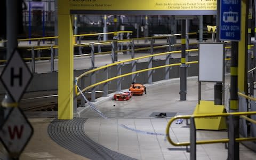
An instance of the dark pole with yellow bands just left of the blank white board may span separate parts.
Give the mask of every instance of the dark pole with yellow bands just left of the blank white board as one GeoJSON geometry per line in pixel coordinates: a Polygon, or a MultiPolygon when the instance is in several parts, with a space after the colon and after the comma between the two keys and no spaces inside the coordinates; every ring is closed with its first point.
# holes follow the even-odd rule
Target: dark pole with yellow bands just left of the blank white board
{"type": "Polygon", "coordinates": [[[187,100],[186,21],[181,20],[180,100],[187,100]]]}

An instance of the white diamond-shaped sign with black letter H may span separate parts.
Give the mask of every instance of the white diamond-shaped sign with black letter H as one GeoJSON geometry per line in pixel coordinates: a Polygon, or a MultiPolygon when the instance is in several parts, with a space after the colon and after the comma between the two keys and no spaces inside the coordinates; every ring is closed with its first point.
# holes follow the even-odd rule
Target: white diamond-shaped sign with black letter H
{"type": "Polygon", "coordinates": [[[20,101],[31,78],[32,74],[26,63],[21,58],[18,50],[14,50],[0,77],[13,101],[20,101]]]}

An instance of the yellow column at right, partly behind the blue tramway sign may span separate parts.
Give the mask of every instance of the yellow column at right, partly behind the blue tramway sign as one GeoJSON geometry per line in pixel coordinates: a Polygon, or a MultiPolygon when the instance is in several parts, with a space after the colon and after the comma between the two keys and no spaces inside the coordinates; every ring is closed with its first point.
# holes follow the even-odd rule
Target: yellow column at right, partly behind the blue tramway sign
{"type": "Polygon", "coordinates": [[[245,93],[245,84],[247,83],[247,0],[241,1],[241,41],[238,43],[238,92],[245,93]]]}

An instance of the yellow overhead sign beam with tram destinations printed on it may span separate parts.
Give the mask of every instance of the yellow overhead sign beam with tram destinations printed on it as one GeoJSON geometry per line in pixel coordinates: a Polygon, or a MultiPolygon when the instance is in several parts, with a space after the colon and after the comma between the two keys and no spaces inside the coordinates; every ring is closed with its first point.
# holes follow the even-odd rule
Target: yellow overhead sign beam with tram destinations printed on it
{"type": "Polygon", "coordinates": [[[179,11],[217,10],[217,0],[62,0],[60,13],[69,10],[179,11]]]}

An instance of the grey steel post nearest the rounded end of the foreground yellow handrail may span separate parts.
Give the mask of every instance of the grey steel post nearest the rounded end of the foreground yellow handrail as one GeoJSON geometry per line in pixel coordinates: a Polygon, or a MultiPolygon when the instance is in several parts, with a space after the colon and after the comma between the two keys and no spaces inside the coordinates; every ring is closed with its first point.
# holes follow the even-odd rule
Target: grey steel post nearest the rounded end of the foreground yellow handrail
{"type": "Polygon", "coordinates": [[[195,118],[190,117],[190,160],[196,159],[196,125],[195,118]]]}

